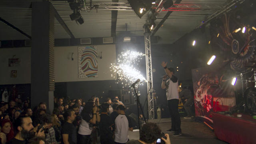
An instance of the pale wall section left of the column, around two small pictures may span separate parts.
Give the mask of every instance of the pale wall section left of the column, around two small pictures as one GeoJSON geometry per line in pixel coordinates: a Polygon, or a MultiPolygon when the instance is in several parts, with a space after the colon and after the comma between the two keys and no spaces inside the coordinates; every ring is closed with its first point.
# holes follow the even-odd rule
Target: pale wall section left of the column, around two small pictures
{"type": "Polygon", "coordinates": [[[0,85],[29,84],[31,72],[31,48],[0,48],[0,85]],[[9,67],[9,58],[20,58],[20,66],[9,67]],[[17,77],[11,78],[11,71],[17,70],[17,77]]]}

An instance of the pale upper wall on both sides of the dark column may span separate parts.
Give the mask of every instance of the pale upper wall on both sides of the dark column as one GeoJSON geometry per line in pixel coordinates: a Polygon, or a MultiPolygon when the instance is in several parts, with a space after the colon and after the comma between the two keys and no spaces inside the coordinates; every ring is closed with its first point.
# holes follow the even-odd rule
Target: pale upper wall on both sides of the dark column
{"type": "MultiPolygon", "coordinates": [[[[116,45],[97,45],[98,58],[97,78],[78,78],[78,47],[55,47],[55,82],[74,82],[91,80],[115,80],[111,77],[110,64],[116,63],[116,45]],[[71,54],[74,60],[71,60],[71,54]]],[[[0,85],[29,84],[31,77],[31,48],[0,48],[0,85]],[[20,66],[8,67],[8,59],[20,58],[20,66]],[[11,78],[11,70],[17,70],[17,78],[11,78]]]]}

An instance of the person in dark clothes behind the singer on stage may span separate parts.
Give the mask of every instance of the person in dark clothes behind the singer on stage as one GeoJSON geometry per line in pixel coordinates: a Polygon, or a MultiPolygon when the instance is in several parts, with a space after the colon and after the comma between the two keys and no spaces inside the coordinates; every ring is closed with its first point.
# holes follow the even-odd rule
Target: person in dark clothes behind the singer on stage
{"type": "Polygon", "coordinates": [[[191,106],[192,104],[194,104],[194,95],[188,89],[182,90],[182,88],[179,87],[178,91],[180,94],[180,99],[185,102],[183,106],[186,110],[187,116],[185,116],[184,118],[192,118],[191,106]]]}

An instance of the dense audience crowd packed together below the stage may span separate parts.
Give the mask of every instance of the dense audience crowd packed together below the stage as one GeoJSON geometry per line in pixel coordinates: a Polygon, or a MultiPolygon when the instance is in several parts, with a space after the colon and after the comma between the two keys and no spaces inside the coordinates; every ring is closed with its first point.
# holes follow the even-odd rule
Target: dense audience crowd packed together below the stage
{"type": "MultiPolygon", "coordinates": [[[[134,126],[118,97],[102,104],[95,96],[86,102],[54,98],[52,112],[44,102],[29,106],[28,100],[0,103],[0,144],[154,144],[161,136],[158,126],[148,123],[140,140],[129,140],[134,126]]],[[[169,136],[163,140],[170,144],[169,136]]]]}

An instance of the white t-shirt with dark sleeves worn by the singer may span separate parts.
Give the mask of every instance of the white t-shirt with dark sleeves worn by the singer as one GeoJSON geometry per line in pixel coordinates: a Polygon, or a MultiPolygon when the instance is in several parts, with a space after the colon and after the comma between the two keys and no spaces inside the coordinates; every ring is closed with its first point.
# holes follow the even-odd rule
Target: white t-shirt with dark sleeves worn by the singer
{"type": "Polygon", "coordinates": [[[166,97],[167,100],[179,99],[178,78],[172,75],[172,78],[166,80],[166,97]]]}

